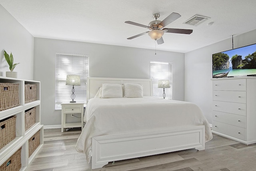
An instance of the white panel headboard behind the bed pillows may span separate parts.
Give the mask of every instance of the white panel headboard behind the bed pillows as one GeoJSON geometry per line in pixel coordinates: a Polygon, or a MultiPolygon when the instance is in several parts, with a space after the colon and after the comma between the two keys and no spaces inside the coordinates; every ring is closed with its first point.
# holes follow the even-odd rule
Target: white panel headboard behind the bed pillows
{"type": "Polygon", "coordinates": [[[98,89],[103,83],[108,84],[124,84],[133,83],[141,84],[143,87],[143,95],[152,96],[152,80],[151,79],[137,79],[137,78],[100,78],[88,77],[87,78],[87,101],[93,98],[98,89]]]}

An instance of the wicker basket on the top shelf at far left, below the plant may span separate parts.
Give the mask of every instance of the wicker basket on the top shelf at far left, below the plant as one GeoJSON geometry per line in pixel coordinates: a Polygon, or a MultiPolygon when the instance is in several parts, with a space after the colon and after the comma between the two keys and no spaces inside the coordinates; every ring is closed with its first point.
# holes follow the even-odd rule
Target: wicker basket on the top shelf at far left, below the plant
{"type": "Polygon", "coordinates": [[[0,83],[0,111],[19,105],[19,84],[0,83]]]}

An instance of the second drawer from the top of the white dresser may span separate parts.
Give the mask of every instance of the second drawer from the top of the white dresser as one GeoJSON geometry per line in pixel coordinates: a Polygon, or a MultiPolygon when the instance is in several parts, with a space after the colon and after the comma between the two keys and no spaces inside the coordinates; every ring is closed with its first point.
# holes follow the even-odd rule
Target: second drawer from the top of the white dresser
{"type": "Polygon", "coordinates": [[[212,99],[217,101],[229,101],[246,103],[246,91],[212,91],[212,99]]]}

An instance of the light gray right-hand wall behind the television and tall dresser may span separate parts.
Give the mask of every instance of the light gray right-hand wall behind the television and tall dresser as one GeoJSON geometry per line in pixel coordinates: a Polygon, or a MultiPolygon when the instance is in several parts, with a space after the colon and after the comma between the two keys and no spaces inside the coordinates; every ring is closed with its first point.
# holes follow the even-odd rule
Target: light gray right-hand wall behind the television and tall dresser
{"type": "MultiPolygon", "coordinates": [[[[234,36],[234,48],[256,43],[256,30],[234,36]]],[[[196,103],[212,123],[212,54],[232,49],[232,38],[185,54],[185,101],[196,103]]]]}

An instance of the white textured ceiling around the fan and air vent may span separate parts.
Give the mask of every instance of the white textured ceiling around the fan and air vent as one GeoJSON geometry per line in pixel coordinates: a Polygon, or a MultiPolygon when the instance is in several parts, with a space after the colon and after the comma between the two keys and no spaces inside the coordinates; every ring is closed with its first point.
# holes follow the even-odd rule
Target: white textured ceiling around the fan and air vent
{"type": "Polygon", "coordinates": [[[190,35],[165,33],[157,50],[190,52],[256,29],[256,0],[0,0],[0,4],[34,37],[154,49],[148,31],[125,24],[148,25],[159,13],[180,18],[167,28],[192,29],[190,35]],[[198,26],[183,24],[194,15],[210,17],[198,26]],[[208,23],[214,22],[211,26],[208,23]]]}

